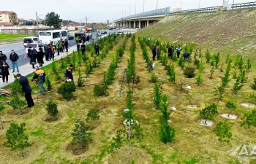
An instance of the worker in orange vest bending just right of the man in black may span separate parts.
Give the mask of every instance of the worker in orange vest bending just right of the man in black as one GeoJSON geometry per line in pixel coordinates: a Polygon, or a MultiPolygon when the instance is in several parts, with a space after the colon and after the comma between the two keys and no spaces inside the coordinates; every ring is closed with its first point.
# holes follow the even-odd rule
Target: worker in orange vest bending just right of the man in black
{"type": "Polygon", "coordinates": [[[43,95],[45,93],[45,87],[44,87],[44,83],[45,83],[45,71],[42,69],[39,69],[39,67],[36,67],[36,71],[34,72],[34,77],[32,78],[32,82],[34,82],[34,80],[36,80],[38,87],[40,89],[40,93],[41,95],[43,95]]]}

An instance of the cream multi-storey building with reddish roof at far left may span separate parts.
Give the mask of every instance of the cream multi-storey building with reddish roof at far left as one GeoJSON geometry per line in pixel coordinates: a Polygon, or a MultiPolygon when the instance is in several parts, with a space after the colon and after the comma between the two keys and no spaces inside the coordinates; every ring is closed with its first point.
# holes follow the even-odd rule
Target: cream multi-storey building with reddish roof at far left
{"type": "Polygon", "coordinates": [[[15,12],[10,11],[0,11],[0,23],[12,23],[15,25],[18,23],[18,17],[15,12]]]}

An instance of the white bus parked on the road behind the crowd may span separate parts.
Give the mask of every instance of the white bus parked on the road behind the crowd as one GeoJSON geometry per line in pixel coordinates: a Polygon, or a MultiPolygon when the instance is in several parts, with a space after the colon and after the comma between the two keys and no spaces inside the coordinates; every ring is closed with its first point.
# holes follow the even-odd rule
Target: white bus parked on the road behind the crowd
{"type": "Polygon", "coordinates": [[[53,45],[56,45],[61,39],[68,41],[69,31],[67,30],[51,30],[51,31],[39,31],[38,37],[39,42],[43,44],[50,44],[51,42],[53,45]]]}

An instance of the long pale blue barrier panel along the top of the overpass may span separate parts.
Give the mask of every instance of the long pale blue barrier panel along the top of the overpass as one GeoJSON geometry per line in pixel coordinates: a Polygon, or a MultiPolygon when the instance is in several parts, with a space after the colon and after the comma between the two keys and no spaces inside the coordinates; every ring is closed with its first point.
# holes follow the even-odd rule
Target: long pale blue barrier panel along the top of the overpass
{"type": "Polygon", "coordinates": [[[137,15],[130,15],[128,17],[122,17],[118,20],[115,20],[115,22],[120,22],[122,20],[131,20],[131,19],[135,19],[138,17],[151,17],[151,16],[157,16],[157,15],[168,15],[170,13],[170,7],[165,7],[162,9],[155,9],[152,11],[148,11],[148,12],[142,12],[139,13],[137,15]]]}

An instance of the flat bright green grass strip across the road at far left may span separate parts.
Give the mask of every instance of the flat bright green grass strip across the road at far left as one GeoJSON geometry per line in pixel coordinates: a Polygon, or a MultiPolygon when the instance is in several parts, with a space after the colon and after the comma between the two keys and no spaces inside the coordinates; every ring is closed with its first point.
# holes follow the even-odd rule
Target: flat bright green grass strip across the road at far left
{"type": "Polygon", "coordinates": [[[23,37],[27,37],[31,35],[25,34],[0,34],[0,42],[1,43],[13,43],[13,42],[21,42],[23,41],[23,37]]]}

